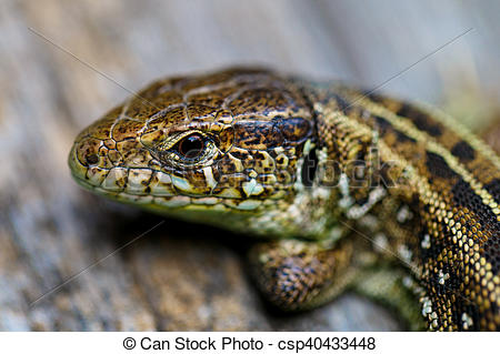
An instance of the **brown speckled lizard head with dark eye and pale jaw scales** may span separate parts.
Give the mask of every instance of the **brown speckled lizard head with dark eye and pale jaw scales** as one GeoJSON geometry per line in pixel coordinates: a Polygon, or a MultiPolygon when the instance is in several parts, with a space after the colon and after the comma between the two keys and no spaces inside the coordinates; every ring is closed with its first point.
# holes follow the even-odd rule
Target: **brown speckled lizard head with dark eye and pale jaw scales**
{"type": "Polygon", "coordinates": [[[84,188],[167,213],[258,212],[293,199],[313,134],[292,81],[232,69],[153,82],[76,139],[84,188]]]}

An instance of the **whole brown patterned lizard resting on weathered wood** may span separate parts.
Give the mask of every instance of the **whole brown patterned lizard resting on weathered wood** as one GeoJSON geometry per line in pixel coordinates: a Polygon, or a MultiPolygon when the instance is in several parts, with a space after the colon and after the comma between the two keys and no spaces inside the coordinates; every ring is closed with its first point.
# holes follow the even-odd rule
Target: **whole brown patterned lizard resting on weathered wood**
{"type": "Polygon", "coordinates": [[[69,164],[99,194],[261,236],[253,273],[283,310],[353,287],[412,328],[500,330],[500,160],[442,113],[230,69],[152,83],[69,164]]]}

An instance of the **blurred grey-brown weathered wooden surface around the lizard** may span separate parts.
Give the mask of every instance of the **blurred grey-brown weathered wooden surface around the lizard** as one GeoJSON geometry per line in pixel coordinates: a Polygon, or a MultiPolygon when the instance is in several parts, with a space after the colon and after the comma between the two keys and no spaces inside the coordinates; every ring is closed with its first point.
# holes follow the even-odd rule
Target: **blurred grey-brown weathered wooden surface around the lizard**
{"type": "Polygon", "coordinates": [[[0,330],[402,328],[353,294],[273,313],[238,235],[167,220],[112,253],[162,219],[80,190],[67,154],[160,75],[260,63],[376,87],[469,28],[383,89],[484,125],[499,100],[499,12],[493,1],[1,1],[0,330]]]}

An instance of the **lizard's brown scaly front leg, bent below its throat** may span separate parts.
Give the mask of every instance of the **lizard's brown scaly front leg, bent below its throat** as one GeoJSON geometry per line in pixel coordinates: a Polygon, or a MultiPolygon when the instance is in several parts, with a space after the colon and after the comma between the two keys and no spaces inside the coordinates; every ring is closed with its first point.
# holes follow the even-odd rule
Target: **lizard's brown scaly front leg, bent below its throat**
{"type": "Polygon", "coordinates": [[[264,296],[283,311],[321,305],[352,284],[353,245],[279,240],[259,243],[249,254],[252,274],[264,296]]]}

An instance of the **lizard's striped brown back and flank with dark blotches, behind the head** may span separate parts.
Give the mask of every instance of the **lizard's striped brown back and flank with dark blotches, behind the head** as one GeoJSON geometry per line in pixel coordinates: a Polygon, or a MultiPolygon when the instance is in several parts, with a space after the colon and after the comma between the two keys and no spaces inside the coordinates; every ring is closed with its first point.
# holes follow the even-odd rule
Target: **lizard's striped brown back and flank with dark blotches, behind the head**
{"type": "Polygon", "coordinates": [[[376,216],[367,232],[420,280],[430,328],[498,331],[498,156],[437,111],[342,85],[318,92],[319,149],[352,181],[344,214],[359,227],[376,216]]]}

